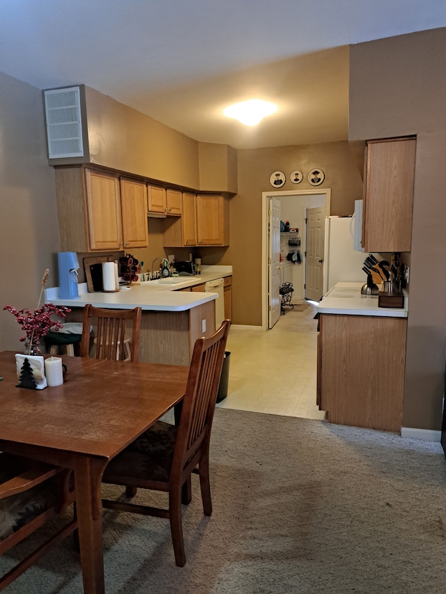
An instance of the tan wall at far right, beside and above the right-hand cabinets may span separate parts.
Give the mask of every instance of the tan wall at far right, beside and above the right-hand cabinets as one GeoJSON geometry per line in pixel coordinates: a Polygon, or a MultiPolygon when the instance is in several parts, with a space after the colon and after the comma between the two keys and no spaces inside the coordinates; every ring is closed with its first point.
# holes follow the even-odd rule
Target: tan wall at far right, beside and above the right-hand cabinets
{"type": "Polygon", "coordinates": [[[351,47],[351,140],[417,134],[403,426],[432,430],[446,344],[445,47],[446,29],[351,47]]]}

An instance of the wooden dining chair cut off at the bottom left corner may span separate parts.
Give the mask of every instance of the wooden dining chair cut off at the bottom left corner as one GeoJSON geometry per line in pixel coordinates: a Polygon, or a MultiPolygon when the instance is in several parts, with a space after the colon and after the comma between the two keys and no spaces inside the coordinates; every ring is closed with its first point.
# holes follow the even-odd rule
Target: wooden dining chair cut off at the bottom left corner
{"type": "MultiPolygon", "coordinates": [[[[0,453],[0,555],[63,513],[74,499],[71,471],[0,453]]],[[[0,591],[76,528],[74,516],[0,577],[0,591]]]]}

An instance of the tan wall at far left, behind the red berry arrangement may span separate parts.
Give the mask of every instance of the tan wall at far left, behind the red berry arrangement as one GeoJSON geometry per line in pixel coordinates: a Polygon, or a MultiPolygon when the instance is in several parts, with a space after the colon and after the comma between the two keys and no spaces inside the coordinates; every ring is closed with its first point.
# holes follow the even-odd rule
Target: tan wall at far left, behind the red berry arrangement
{"type": "Polygon", "coordinates": [[[22,328],[3,306],[37,307],[57,279],[59,227],[39,89],[0,72],[0,350],[20,352],[22,328]]]}

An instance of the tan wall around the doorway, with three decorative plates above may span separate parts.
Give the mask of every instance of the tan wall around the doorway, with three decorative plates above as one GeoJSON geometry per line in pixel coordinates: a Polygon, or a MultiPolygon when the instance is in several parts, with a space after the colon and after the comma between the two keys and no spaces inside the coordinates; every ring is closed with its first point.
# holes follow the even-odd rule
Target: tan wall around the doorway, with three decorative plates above
{"type": "Polygon", "coordinates": [[[261,326],[262,192],[273,191],[270,175],[282,171],[280,190],[314,189],[307,173],[321,167],[325,180],[318,188],[332,189],[331,213],[352,214],[362,198],[362,178],[348,142],[238,150],[238,196],[231,200],[231,244],[222,263],[233,265],[233,322],[261,326]],[[300,184],[289,180],[300,169],[300,184]]]}

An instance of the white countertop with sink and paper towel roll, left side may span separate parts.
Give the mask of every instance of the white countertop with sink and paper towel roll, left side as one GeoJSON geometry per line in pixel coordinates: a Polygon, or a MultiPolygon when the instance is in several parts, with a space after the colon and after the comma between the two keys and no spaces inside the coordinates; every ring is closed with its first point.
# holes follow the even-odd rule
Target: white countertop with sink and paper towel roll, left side
{"type": "Polygon", "coordinates": [[[215,292],[179,291],[193,285],[231,276],[232,266],[203,266],[201,274],[178,276],[176,284],[146,281],[123,288],[116,292],[88,292],[86,283],[79,284],[79,299],[60,299],[59,287],[45,290],[45,302],[66,307],[84,307],[91,303],[95,307],[110,309],[131,309],[140,306],[143,311],[186,311],[203,303],[217,299],[215,292]]]}

